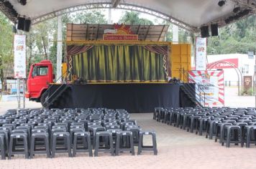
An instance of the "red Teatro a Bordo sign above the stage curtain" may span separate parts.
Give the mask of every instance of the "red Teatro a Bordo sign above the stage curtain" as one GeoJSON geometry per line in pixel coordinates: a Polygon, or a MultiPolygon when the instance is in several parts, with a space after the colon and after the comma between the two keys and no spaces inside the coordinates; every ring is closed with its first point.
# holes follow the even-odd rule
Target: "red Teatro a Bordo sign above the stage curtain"
{"type": "Polygon", "coordinates": [[[137,41],[137,34],[104,34],[105,41],[137,41]]]}

